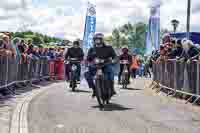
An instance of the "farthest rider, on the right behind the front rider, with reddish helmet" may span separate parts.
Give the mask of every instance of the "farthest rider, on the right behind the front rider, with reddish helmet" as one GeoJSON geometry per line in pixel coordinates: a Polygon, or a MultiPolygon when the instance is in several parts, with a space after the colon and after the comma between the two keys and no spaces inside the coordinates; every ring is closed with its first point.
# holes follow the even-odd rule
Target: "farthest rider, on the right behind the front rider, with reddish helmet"
{"type": "MultiPolygon", "coordinates": [[[[132,64],[132,56],[129,54],[129,50],[127,47],[122,48],[122,54],[119,56],[119,60],[128,60],[128,83],[130,83],[130,65],[132,64]]],[[[120,72],[118,75],[118,84],[121,82],[121,75],[124,70],[124,64],[120,64],[120,72]]]]}

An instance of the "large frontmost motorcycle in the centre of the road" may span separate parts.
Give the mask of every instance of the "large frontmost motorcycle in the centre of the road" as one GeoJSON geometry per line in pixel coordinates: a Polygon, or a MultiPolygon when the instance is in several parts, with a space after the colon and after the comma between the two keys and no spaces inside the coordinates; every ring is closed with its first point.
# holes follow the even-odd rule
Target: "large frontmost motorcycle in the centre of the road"
{"type": "Polygon", "coordinates": [[[95,59],[95,65],[97,68],[95,76],[96,98],[100,109],[103,109],[106,104],[109,104],[109,100],[112,97],[112,91],[111,88],[109,88],[111,83],[105,79],[105,75],[102,70],[106,64],[108,63],[106,63],[105,60],[95,59]]]}

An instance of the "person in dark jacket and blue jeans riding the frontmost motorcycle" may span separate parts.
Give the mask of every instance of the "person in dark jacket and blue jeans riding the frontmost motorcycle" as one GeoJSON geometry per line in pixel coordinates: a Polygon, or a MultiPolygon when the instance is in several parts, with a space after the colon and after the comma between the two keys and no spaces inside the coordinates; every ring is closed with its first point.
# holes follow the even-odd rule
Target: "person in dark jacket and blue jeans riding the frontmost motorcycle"
{"type": "MultiPolygon", "coordinates": [[[[89,63],[88,71],[85,73],[85,79],[88,82],[89,88],[92,88],[94,98],[95,95],[95,84],[94,84],[94,77],[96,74],[96,67],[93,65],[95,58],[103,59],[105,61],[110,61],[112,59],[112,62],[114,63],[116,61],[116,53],[114,49],[111,46],[108,46],[104,42],[104,35],[102,33],[97,33],[93,37],[94,46],[89,49],[88,55],[87,55],[87,61],[89,63]]],[[[103,72],[105,74],[105,77],[107,77],[107,80],[110,81],[109,88],[112,91],[112,95],[115,95],[116,92],[114,90],[114,70],[113,70],[113,64],[107,64],[103,68],[103,72]]]]}

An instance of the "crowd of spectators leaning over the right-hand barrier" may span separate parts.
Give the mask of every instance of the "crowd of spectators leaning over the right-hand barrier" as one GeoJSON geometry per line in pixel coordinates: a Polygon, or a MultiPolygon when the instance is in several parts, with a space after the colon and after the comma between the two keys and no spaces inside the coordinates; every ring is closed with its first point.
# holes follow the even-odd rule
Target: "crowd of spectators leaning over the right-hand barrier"
{"type": "Polygon", "coordinates": [[[160,50],[152,52],[151,60],[155,62],[167,59],[176,59],[177,61],[190,63],[192,60],[198,60],[200,56],[200,44],[194,44],[187,39],[172,39],[169,34],[164,35],[160,50]]]}

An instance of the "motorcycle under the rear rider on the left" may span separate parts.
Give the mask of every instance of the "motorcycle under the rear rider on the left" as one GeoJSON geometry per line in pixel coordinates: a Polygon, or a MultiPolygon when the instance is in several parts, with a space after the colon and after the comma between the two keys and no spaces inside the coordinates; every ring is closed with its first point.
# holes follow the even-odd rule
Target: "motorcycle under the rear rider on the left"
{"type": "Polygon", "coordinates": [[[77,84],[78,84],[78,79],[77,79],[77,73],[78,73],[78,67],[77,64],[80,63],[80,61],[76,58],[71,58],[69,59],[69,61],[67,62],[68,64],[70,64],[71,69],[69,72],[69,83],[70,83],[70,88],[72,88],[72,91],[75,92],[77,84]]]}

